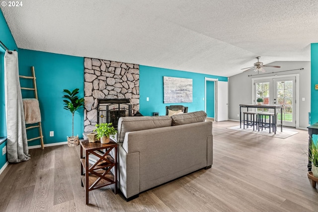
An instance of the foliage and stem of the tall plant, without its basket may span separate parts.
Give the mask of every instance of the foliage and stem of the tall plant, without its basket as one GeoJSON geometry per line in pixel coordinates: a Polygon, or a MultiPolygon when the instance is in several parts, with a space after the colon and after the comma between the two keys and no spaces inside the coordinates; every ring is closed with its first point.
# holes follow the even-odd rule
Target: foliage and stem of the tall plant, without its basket
{"type": "Polygon", "coordinates": [[[84,98],[79,98],[77,94],[79,94],[79,88],[74,89],[72,92],[68,89],[64,89],[63,92],[66,94],[63,98],[66,98],[64,101],[64,109],[70,111],[72,113],[72,137],[74,138],[74,113],[82,108],[84,105],[84,98]]]}

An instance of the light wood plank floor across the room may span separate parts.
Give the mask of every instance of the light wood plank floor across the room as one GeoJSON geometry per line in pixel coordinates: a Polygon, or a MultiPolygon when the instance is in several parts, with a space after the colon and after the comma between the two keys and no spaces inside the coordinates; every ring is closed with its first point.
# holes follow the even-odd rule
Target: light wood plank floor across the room
{"type": "Polygon", "coordinates": [[[0,212],[311,212],[318,192],[307,178],[308,132],[278,139],[214,122],[214,163],[126,202],[111,188],[80,185],[79,146],[30,149],[31,160],[0,175],[0,212]]]}

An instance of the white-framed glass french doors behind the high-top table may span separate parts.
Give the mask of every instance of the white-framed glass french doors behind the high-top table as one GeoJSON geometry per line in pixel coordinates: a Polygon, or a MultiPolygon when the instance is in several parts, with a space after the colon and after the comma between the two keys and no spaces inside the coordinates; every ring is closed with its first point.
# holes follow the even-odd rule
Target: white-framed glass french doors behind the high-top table
{"type": "MultiPolygon", "coordinates": [[[[261,98],[263,104],[283,105],[283,126],[296,127],[295,76],[256,79],[254,81],[254,94],[255,103],[256,99],[261,98]]],[[[277,116],[277,119],[280,122],[280,115],[277,116]]]]}

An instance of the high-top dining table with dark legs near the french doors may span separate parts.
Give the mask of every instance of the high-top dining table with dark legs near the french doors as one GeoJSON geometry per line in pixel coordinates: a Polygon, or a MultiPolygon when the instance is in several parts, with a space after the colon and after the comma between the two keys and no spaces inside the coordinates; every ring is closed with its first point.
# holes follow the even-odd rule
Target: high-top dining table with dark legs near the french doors
{"type": "MultiPolygon", "coordinates": [[[[280,126],[280,132],[283,132],[283,105],[258,105],[258,104],[240,104],[239,105],[239,128],[242,128],[242,118],[241,118],[241,109],[242,107],[246,108],[267,108],[274,109],[274,125],[280,126]],[[280,124],[277,124],[277,113],[276,111],[280,109],[280,124]]],[[[276,134],[276,127],[274,127],[274,134],[276,134]]]]}

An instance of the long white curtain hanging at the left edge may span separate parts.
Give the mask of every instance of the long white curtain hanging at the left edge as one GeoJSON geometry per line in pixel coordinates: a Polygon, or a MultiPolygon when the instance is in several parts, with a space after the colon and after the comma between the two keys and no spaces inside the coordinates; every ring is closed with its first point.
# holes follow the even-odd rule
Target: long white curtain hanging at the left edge
{"type": "Polygon", "coordinates": [[[30,159],[26,137],[22,94],[19,81],[18,54],[4,54],[4,90],[8,161],[17,163],[30,159]]]}

